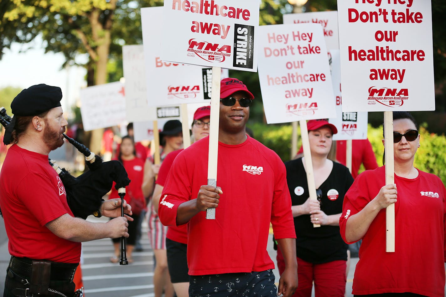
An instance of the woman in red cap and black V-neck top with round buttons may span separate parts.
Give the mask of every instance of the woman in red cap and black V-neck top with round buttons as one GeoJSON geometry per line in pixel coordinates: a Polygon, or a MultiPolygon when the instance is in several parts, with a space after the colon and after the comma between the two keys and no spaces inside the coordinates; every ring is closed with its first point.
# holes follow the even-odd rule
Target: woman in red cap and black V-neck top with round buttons
{"type": "MultiPolygon", "coordinates": [[[[338,130],[326,120],[309,120],[311,161],[318,200],[310,200],[305,157],[285,162],[291,210],[296,230],[298,286],[293,296],[311,296],[314,282],[316,297],[345,293],[347,280],[347,244],[339,235],[339,217],[344,194],[353,183],[347,167],[335,161],[332,141],[338,130]],[[320,224],[321,227],[313,227],[320,224]]],[[[277,266],[282,273],[283,260],[277,250],[277,266]]]]}

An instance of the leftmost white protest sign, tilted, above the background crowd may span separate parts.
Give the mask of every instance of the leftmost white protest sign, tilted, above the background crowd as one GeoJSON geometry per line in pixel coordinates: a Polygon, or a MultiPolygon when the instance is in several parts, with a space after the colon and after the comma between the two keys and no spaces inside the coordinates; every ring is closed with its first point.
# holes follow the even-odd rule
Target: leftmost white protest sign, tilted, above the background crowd
{"type": "Polygon", "coordinates": [[[81,116],[85,131],[125,122],[124,84],[110,82],[80,91],[81,116]]]}

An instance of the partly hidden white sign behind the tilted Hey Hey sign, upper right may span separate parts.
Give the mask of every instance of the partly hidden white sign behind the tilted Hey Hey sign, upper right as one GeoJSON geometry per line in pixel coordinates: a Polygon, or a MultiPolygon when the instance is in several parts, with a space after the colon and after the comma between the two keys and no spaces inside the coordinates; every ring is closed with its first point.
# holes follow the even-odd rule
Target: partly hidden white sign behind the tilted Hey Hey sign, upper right
{"type": "Polygon", "coordinates": [[[284,24],[317,23],[322,25],[327,50],[339,49],[338,12],[319,11],[288,13],[283,15],[284,24]]]}

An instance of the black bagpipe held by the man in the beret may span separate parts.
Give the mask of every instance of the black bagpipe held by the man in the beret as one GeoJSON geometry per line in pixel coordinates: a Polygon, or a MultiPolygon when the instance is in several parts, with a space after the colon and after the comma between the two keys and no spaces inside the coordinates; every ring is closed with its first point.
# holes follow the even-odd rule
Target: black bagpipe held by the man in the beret
{"type": "MultiPolygon", "coordinates": [[[[0,123],[6,127],[11,120],[6,109],[0,107],[0,123]]],[[[85,156],[85,163],[89,169],[80,176],[74,177],[65,168],[60,168],[55,161],[48,158],[49,164],[62,180],[66,191],[66,201],[74,216],[86,219],[87,216],[98,211],[103,202],[102,197],[111,190],[113,181],[116,183],[115,188],[121,198],[121,216],[124,216],[125,187],[128,186],[130,180],[121,162],[116,160],[103,162],[101,157],[91,153],[85,145],[66,136],[65,133],[63,137],[85,156]]],[[[125,240],[121,237],[120,265],[127,264],[125,240]]]]}

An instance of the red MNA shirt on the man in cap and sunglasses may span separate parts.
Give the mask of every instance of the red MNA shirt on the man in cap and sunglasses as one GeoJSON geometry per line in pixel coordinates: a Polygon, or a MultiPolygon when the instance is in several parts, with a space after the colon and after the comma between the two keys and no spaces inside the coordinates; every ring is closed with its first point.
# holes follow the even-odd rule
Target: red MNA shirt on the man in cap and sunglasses
{"type": "MultiPolygon", "coordinates": [[[[177,208],[207,184],[209,137],[173,161],[158,206],[165,226],[176,225],[177,208]]],[[[264,271],[274,268],[266,250],[270,222],[277,239],[296,238],[285,165],[248,136],[242,144],[219,142],[217,186],[222,188],[216,219],[206,211],[188,223],[190,275],[264,271]]]]}

